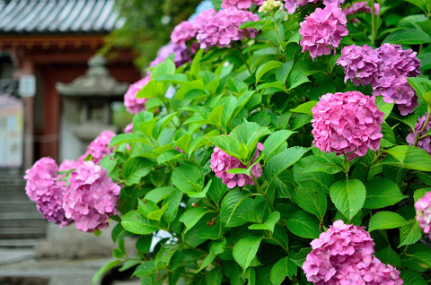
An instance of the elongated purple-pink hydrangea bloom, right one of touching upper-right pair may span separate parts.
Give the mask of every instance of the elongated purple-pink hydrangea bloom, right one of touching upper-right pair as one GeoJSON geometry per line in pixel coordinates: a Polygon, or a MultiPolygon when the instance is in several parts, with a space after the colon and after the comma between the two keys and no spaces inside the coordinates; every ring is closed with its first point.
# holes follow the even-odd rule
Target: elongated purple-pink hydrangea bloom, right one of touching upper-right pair
{"type": "Polygon", "coordinates": [[[420,74],[420,61],[411,49],[403,50],[400,45],[383,44],[375,49],[380,57],[379,73],[375,78],[373,95],[383,95],[386,103],[398,105],[403,116],[418,106],[418,96],[409,85],[407,77],[420,74]]]}

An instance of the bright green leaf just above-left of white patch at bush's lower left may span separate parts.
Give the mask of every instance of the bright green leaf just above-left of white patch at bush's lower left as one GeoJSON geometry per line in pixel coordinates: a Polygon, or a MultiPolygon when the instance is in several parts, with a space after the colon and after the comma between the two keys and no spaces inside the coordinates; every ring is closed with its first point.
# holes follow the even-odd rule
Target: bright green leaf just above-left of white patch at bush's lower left
{"type": "Polygon", "coordinates": [[[121,220],[121,225],[124,229],[136,235],[152,234],[159,229],[155,221],[147,219],[137,210],[125,214],[121,220]]]}

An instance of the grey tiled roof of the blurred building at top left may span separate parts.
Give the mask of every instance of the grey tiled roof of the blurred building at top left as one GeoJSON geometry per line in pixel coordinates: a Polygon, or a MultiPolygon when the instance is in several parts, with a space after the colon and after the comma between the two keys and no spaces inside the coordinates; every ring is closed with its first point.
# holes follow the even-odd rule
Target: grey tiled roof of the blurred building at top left
{"type": "Polygon", "coordinates": [[[0,0],[0,34],[107,33],[123,21],[115,0],[0,0]]]}

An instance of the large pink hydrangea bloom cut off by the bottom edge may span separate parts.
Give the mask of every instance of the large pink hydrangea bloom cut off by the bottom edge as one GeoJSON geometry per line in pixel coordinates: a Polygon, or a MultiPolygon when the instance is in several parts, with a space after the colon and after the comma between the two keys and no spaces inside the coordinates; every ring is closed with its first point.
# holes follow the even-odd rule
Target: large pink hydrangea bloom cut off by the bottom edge
{"type": "Polygon", "coordinates": [[[337,220],[311,245],[303,271],[314,284],[402,284],[400,272],[375,258],[374,241],[365,227],[337,220]]]}

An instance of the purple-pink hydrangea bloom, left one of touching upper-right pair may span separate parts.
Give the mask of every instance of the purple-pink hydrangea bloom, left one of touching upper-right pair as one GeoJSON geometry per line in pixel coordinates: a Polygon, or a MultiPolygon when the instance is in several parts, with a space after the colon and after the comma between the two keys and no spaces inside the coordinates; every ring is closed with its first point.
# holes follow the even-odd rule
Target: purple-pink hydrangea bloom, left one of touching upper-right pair
{"type": "Polygon", "coordinates": [[[344,68],[347,79],[350,79],[356,86],[375,84],[375,78],[379,72],[380,58],[374,52],[374,48],[365,45],[358,47],[355,45],[341,49],[341,56],[337,60],[337,65],[344,68]]]}

